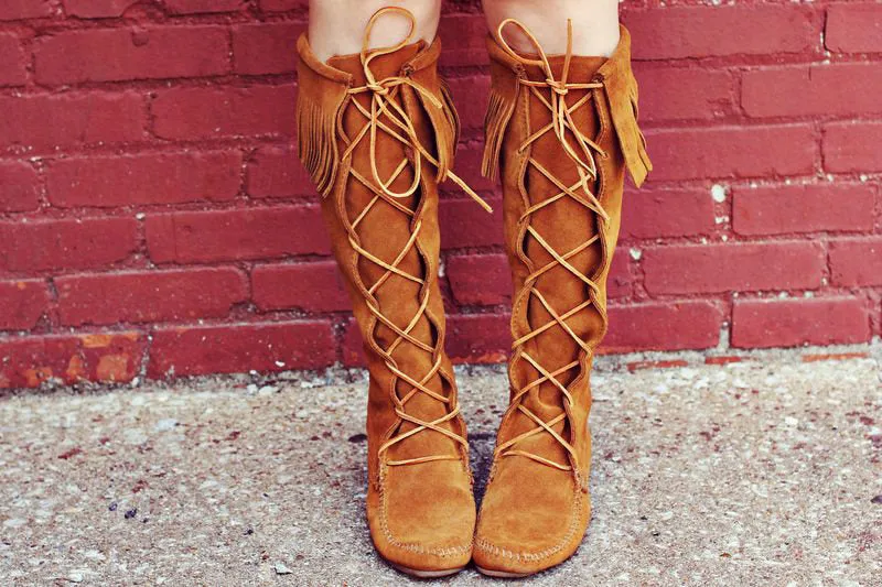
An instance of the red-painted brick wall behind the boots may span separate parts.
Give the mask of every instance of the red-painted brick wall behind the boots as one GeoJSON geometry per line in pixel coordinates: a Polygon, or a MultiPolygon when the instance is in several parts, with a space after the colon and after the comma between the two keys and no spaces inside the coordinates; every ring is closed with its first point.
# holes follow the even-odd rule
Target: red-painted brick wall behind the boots
{"type": "MultiPolygon", "coordinates": [[[[304,3],[0,2],[0,387],[358,362],[291,151],[304,3]]],[[[656,172],[605,350],[879,335],[882,4],[676,4],[624,7],[656,172]]],[[[445,10],[458,169],[494,200],[483,19],[445,10]]],[[[501,218],[441,213],[450,351],[498,360],[501,218]]]]}

